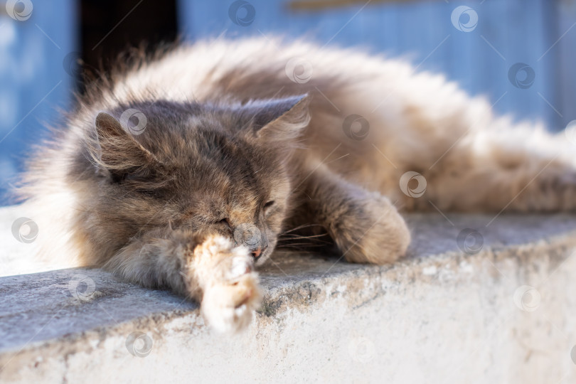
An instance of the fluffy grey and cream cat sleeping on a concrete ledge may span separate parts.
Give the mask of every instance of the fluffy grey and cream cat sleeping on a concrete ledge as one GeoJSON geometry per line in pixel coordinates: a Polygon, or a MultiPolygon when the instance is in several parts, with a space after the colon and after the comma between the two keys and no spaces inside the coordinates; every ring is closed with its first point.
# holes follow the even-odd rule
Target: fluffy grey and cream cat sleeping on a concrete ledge
{"type": "Polygon", "coordinates": [[[402,60],[248,38],[124,67],[36,149],[19,196],[43,257],[171,289],[218,331],[250,324],[284,233],[382,265],[410,244],[400,211],[576,206],[566,140],[402,60]]]}

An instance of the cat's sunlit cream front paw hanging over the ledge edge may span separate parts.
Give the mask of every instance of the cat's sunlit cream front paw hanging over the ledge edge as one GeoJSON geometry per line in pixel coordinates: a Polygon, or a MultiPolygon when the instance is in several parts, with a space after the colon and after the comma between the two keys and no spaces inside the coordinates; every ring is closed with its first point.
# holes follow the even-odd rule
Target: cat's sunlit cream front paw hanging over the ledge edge
{"type": "Polygon", "coordinates": [[[204,318],[221,332],[245,328],[262,299],[250,252],[218,236],[208,238],[196,253],[206,274],[201,303],[204,318]]]}

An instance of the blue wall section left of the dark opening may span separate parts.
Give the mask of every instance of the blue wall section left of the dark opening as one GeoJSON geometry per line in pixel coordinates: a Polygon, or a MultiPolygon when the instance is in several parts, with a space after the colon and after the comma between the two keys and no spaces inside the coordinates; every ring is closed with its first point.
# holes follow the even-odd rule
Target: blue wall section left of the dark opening
{"type": "Polygon", "coordinates": [[[75,1],[30,3],[30,17],[17,21],[0,1],[0,194],[21,170],[26,150],[46,134],[42,123],[55,122],[56,108],[70,107],[75,84],[64,64],[77,50],[75,1]]]}

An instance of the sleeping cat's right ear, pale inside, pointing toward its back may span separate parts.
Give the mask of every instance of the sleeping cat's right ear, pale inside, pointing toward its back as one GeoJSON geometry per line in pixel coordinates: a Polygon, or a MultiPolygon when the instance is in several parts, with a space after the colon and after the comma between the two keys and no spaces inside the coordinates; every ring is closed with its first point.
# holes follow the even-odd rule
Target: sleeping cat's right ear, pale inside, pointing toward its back
{"type": "Polygon", "coordinates": [[[252,129],[260,139],[270,142],[284,142],[295,139],[308,125],[308,106],[311,97],[297,95],[282,99],[256,100],[245,107],[252,115],[252,129]]]}

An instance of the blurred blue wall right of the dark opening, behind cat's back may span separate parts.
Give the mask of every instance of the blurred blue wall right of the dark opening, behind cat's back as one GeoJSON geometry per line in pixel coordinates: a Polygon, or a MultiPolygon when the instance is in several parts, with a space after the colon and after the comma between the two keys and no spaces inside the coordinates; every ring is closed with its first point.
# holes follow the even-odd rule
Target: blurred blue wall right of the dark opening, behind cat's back
{"type": "MultiPolygon", "coordinates": [[[[191,39],[220,33],[228,37],[281,34],[306,36],[321,45],[362,46],[408,58],[421,70],[445,73],[471,94],[498,101],[497,112],[542,119],[552,130],[576,118],[571,107],[576,28],[553,46],[576,21],[574,1],[372,1],[321,11],[292,11],[289,3],[250,0],[238,15],[245,18],[252,7],[255,17],[242,26],[230,18],[233,1],[181,0],[181,29],[191,39]],[[456,18],[456,26],[464,26],[459,30],[451,16],[462,5],[477,15],[477,23],[465,12],[456,18]],[[509,80],[508,72],[516,63],[526,63],[526,70],[533,70],[529,87],[515,87],[509,80]]],[[[525,76],[526,71],[520,70],[518,80],[525,76]]]]}

